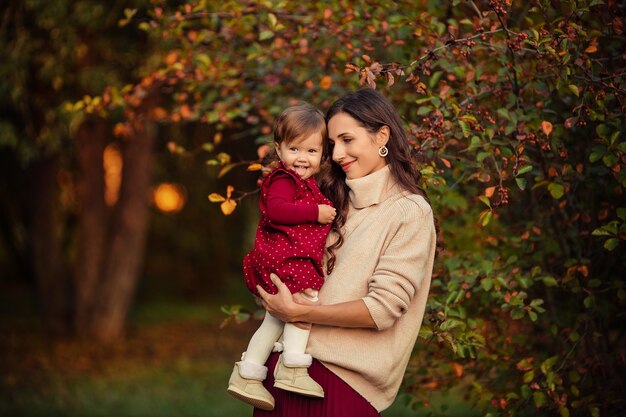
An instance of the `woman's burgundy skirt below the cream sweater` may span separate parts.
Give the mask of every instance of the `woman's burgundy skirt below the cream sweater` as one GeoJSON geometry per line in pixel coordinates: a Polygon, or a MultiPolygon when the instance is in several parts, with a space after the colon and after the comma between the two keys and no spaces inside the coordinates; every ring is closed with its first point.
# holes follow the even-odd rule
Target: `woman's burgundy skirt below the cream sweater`
{"type": "Polygon", "coordinates": [[[313,359],[309,375],[324,388],[324,398],[311,398],[274,388],[274,367],[279,354],[267,360],[265,388],[276,400],[273,411],[254,409],[253,417],[380,417],[370,403],[341,378],[313,359]]]}

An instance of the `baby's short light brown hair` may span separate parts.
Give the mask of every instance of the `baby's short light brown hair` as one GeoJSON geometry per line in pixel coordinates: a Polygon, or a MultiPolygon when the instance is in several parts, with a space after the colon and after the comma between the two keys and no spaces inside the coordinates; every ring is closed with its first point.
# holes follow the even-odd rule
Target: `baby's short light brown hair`
{"type": "MultiPolygon", "coordinates": [[[[289,145],[296,139],[321,133],[324,144],[328,137],[324,114],[308,103],[287,107],[274,124],[274,142],[289,145]]],[[[326,149],[326,146],[324,146],[326,149]]],[[[325,152],[324,152],[325,153],[325,152]]]]}

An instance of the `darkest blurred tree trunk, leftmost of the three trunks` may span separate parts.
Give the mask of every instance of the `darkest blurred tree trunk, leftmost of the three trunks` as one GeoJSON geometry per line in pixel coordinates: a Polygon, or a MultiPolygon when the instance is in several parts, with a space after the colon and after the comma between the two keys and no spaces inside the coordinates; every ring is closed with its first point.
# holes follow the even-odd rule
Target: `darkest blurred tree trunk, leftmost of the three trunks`
{"type": "Polygon", "coordinates": [[[42,321],[50,334],[64,336],[69,332],[70,287],[63,264],[57,159],[43,158],[30,171],[26,217],[42,321]]]}

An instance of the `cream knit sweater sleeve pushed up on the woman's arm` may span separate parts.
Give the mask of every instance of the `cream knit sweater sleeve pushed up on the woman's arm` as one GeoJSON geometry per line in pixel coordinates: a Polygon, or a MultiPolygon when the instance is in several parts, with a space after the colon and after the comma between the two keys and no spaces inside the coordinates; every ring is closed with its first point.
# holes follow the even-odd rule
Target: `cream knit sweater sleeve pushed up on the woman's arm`
{"type": "Polygon", "coordinates": [[[434,251],[436,235],[430,206],[405,200],[400,213],[402,218],[390,230],[391,241],[363,297],[378,330],[390,328],[408,310],[434,251]]]}

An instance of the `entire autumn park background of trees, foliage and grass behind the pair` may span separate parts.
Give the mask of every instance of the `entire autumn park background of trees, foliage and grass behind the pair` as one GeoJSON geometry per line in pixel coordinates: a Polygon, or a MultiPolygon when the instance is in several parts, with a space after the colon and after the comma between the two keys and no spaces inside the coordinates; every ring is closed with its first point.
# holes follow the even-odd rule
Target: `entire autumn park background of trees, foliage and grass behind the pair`
{"type": "Polygon", "coordinates": [[[624,14],[3,1],[0,415],[251,415],[225,388],[259,324],[241,261],[274,117],[370,87],[443,246],[383,416],[623,416],[624,14]]]}

